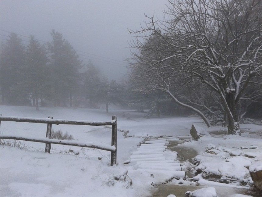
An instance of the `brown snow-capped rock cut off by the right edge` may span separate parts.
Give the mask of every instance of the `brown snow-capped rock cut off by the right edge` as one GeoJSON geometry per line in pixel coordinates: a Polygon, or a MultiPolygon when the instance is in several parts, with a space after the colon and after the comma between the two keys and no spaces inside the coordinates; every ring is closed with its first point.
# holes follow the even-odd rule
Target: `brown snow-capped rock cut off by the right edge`
{"type": "Polygon", "coordinates": [[[255,186],[262,190],[262,161],[253,163],[249,167],[249,173],[255,186]]]}

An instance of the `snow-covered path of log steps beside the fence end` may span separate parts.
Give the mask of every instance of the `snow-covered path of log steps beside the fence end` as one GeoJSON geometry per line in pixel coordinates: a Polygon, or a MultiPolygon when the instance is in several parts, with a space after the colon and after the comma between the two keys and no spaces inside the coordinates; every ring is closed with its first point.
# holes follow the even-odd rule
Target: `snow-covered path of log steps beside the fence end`
{"type": "Polygon", "coordinates": [[[137,173],[146,173],[144,177],[150,180],[152,185],[166,183],[169,180],[184,179],[185,172],[181,170],[180,162],[175,152],[167,151],[168,139],[158,138],[157,140],[145,141],[136,151],[132,152],[129,165],[133,171],[129,176],[132,179],[137,173]]]}

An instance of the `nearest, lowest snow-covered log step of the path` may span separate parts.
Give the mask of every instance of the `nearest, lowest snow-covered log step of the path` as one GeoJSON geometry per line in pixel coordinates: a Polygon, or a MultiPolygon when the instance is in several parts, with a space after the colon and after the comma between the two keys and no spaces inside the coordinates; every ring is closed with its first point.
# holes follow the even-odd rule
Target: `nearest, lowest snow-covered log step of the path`
{"type": "Polygon", "coordinates": [[[137,169],[142,172],[147,172],[148,174],[153,174],[154,178],[158,179],[159,177],[163,179],[167,179],[165,181],[168,181],[172,178],[175,179],[185,179],[186,173],[185,171],[172,171],[172,170],[150,170],[150,169],[137,169]]]}

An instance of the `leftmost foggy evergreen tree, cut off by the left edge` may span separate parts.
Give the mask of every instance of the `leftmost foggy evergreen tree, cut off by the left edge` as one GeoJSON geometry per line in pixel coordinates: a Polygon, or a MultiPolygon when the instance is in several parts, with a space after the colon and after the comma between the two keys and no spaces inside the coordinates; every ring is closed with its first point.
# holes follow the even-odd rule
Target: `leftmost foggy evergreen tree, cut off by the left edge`
{"type": "Polygon", "coordinates": [[[28,91],[25,89],[25,47],[17,34],[11,33],[6,44],[1,46],[0,93],[1,103],[23,105],[28,103],[28,91]]]}

